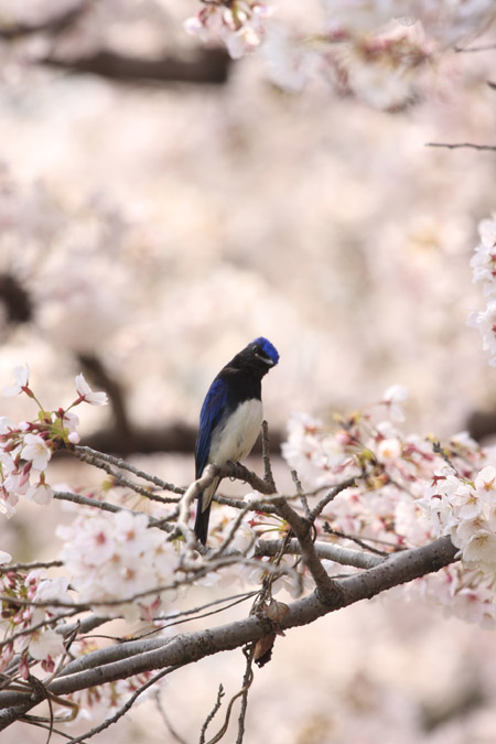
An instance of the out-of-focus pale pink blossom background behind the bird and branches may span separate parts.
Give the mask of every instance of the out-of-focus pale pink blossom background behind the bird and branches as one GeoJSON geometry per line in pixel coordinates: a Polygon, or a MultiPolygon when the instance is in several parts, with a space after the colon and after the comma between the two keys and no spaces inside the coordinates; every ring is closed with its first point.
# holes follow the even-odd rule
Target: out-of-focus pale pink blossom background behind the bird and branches
{"type": "MultiPolygon", "coordinates": [[[[114,402],[80,412],[87,441],[179,485],[212,378],[258,335],[281,355],[263,382],[276,443],[292,410],[331,419],[392,384],[410,390],[408,431],[442,438],[489,414],[494,370],[466,319],[484,305],[470,259],[496,209],[495,154],[427,144],[495,144],[494,11],[417,3],[403,66],[323,46],[324,30],[390,34],[416,6],[389,4],[285,0],[260,50],[231,60],[186,33],[193,0],[0,0],[1,387],[29,363],[55,408],[84,371],[114,402]]],[[[35,413],[24,397],[0,412],[35,413]]],[[[46,537],[39,515],[25,504],[3,521],[0,549],[53,547],[58,515],[46,537]]],[[[246,742],[494,742],[495,651],[494,632],[397,591],[278,639],[246,742]]],[[[240,664],[206,659],[168,683],[187,741],[240,664]]],[[[119,736],[172,741],[162,725],[149,701],[119,736]]]]}

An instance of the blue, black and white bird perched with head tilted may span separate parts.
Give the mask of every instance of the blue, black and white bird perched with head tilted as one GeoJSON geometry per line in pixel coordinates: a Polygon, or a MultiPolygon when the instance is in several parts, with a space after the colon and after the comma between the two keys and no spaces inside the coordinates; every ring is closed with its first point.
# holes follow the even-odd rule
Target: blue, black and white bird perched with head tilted
{"type": "MultiPolygon", "coordinates": [[[[263,418],[261,380],[279,362],[274,346],[259,336],[241,349],[215,377],[200,412],[195,445],[196,479],[209,464],[225,465],[248,456],[263,418]]],[[[219,477],[200,494],[195,535],[206,544],[212,499],[219,477]]]]}

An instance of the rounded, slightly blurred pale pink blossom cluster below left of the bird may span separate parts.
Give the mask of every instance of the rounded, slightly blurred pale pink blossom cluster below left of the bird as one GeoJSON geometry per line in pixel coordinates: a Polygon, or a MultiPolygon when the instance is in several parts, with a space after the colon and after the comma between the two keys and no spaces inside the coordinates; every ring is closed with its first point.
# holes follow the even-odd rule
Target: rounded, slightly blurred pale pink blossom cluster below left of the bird
{"type": "Polygon", "coordinates": [[[101,615],[151,621],[162,600],[175,596],[177,554],[144,514],[80,511],[57,528],[65,543],[60,558],[78,600],[101,603],[101,615]]]}

